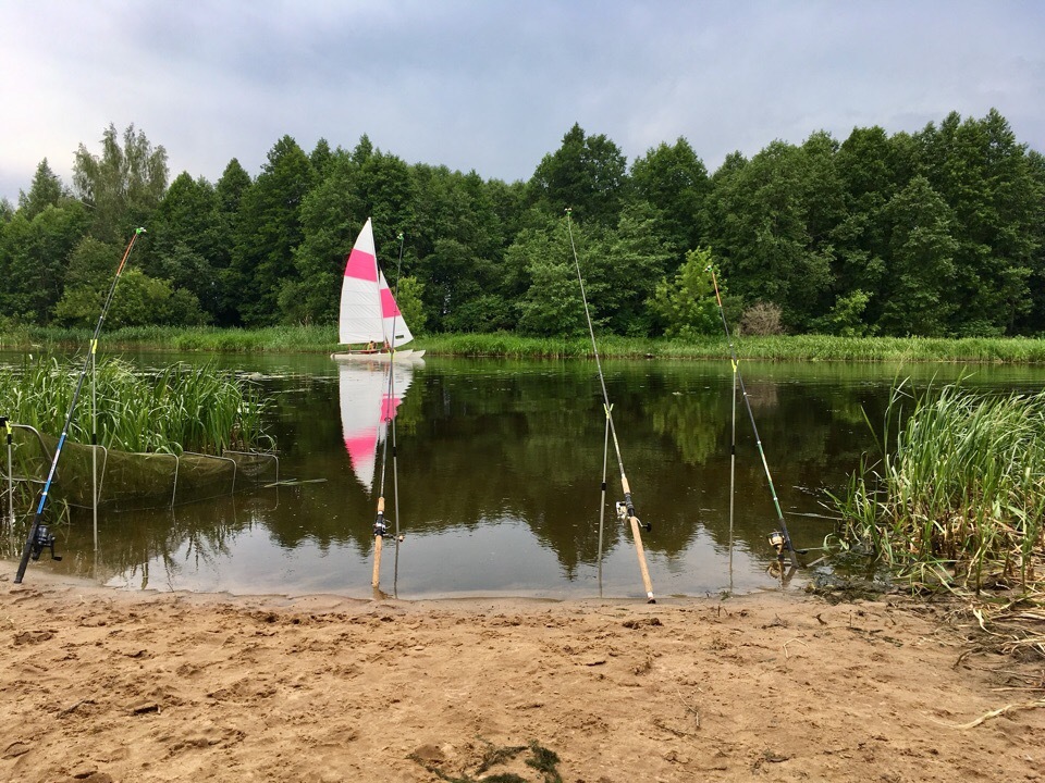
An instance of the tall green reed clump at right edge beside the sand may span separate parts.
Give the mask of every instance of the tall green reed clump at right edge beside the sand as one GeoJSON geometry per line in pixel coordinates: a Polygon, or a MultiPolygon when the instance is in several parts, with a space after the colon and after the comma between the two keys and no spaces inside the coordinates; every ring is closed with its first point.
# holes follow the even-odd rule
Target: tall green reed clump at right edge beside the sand
{"type": "Polygon", "coordinates": [[[976,593],[1029,592],[1045,576],[1045,393],[951,384],[914,396],[900,384],[877,438],[878,461],[834,496],[843,547],[976,593]]]}

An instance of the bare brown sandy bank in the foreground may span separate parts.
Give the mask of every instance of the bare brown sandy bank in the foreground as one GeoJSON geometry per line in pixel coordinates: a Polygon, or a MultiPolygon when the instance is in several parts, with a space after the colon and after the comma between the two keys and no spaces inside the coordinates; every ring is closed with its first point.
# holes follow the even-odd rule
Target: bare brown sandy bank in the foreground
{"type": "Polygon", "coordinates": [[[1045,682],[945,604],[237,598],[13,572],[3,780],[1045,780],[1045,682]]]}

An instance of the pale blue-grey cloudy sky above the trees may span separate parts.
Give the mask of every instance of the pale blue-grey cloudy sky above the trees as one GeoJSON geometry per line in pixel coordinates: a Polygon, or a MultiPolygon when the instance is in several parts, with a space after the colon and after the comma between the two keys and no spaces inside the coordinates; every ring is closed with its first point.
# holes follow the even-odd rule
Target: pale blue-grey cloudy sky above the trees
{"type": "Polygon", "coordinates": [[[576,122],[714,171],[774,139],[1005,115],[1045,151],[1040,0],[0,0],[0,198],[134,124],[182,171],[288,134],[527,179],[576,122]]]}

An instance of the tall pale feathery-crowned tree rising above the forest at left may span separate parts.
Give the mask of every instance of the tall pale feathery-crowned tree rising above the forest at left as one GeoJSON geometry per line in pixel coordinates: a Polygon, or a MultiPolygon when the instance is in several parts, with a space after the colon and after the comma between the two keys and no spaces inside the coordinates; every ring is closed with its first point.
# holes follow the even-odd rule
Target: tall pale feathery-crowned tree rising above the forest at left
{"type": "Polygon", "coordinates": [[[152,148],[134,124],[123,134],[110,124],[101,137],[101,154],[81,144],[73,164],[73,187],[91,209],[91,234],[102,241],[122,241],[148,222],[167,189],[167,150],[152,148]]]}

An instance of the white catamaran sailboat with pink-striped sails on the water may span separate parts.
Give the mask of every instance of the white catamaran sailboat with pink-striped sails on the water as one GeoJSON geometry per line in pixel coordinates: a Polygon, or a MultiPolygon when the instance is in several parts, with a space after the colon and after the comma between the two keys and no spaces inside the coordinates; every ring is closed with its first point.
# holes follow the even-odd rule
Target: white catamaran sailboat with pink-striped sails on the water
{"type": "Polygon", "coordinates": [[[365,346],[344,353],[332,353],[339,361],[390,361],[419,359],[423,350],[397,350],[414,339],[389,288],[384,273],[378,265],[373,245],[373,227],[367,217],[356,244],[345,260],[345,276],[341,284],[341,312],[337,321],[337,341],[347,346],[365,346]]]}

